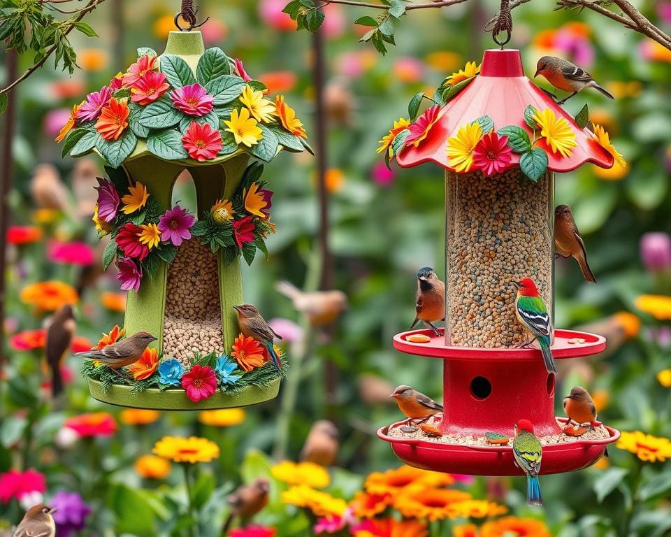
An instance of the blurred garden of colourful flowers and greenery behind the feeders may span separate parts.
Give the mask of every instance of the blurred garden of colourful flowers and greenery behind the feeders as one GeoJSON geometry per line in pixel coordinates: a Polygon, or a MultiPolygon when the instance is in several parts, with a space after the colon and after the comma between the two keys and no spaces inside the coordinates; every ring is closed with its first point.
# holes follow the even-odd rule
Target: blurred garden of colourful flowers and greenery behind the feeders
{"type": "MultiPolygon", "coordinates": [[[[295,31],[282,13],[287,3],[201,0],[198,17],[210,17],[201,28],[205,47],[244,59],[252,78],[284,94],[314,147],[315,49],[312,36],[295,31]]],[[[5,13],[14,4],[3,0],[0,7],[5,13]]],[[[636,4],[671,30],[671,1],[636,4]]],[[[510,45],[521,49],[530,78],[539,57],[558,55],[614,94],[611,101],[582,92],[565,108],[575,114],[589,103],[591,120],[606,127],[628,162],[610,170],[587,165],[556,178],[555,201],[572,207],[598,285],[587,285],[571,259],[559,259],[555,324],[595,331],[609,345],[596,357],[560,364],[557,415],[572,386],[589,389],[600,420],[623,431],[609,458],[584,471],[543,476],[545,506],[537,509],[526,506],[524,478],[396,471],[401,462],[375,436],[402,417],[389,399],[396,385],[442,398],[440,362],[395,352],[391,340],[414,318],[417,269],[434,266],[442,277],[445,264],[442,170],[387,169],[375,150],[393,120],[407,117],[413,94],[433,95],[445,76],[479,63],[493,46],[482,27],[498,10],[496,1],[409,11],[396,22],[396,46],[384,56],[359,43],[368,28],[353,23],[376,13],[324,9],[331,259],[322,266],[317,159],[286,153],[266,166],[277,227],[268,260],[259,255],[243,269],[245,300],[282,331],[290,366],[293,357],[301,359],[276,401],[215,413],[122,410],[89,396],[73,358],[64,368],[66,394],[53,401],[42,364],[45,317],[73,302],[73,350],[86,350],[122,324],[125,304],[114,271],[99,269],[102,248],[91,222],[102,164],[62,158],[54,138],[73,104],[134,62],[136,48],[164,50],[180,8],[106,0],[85,17],[98,36],[70,36],[80,69],[68,76],[50,59],[10,98],[0,535],[10,535],[24,510],[44,499],[59,507],[59,537],[219,536],[229,515],[226,496],[259,477],[270,482],[270,503],[252,527],[231,535],[671,535],[671,51],[598,13],[553,7],[535,0],[516,8],[510,45]],[[275,284],[316,289],[324,270],[349,306],[333,326],[311,327],[275,284]],[[287,461],[300,459],[310,427],[322,419],[338,428],[335,464],[328,473],[291,466],[287,461]],[[194,464],[173,462],[169,450],[152,454],[164,436],[207,438],[218,449],[194,464]],[[415,488],[404,490],[407,483],[415,488]],[[450,510],[449,502],[428,511],[394,507],[403,494],[407,506],[417,487],[439,496],[438,503],[450,491],[462,509],[450,510]],[[404,522],[380,522],[401,515],[404,522]]],[[[2,80],[8,58],[1,59],[2,80]]],[[[20,55],[18,72],[32,60],[20,55]]],[[[0,117],[6,129],[7,113],[0,117]]],[[[180,183],[174,199],[194,206],[192,187],[180,183]]]]}

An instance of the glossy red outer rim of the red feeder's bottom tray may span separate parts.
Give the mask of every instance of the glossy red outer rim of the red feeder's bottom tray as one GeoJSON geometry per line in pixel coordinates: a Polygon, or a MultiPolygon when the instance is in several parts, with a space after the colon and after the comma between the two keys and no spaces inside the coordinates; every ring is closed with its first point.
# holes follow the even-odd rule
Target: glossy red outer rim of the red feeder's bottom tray
{"type": "MultiPolygon", "coordinates": [[[[389,436],[389,429],[406,422],[382,427],[377,436],[389,442],[396,456],[410,466],[465,475],[524,475],[514,464],[510,446],[444,444],[389,436]]],[[[591,466],[603,457],[608,444],[620,438],[620,431],[611,427],[606,429],[610,438],[544,446],[540,473],[572,472],[591,466]]]]}

